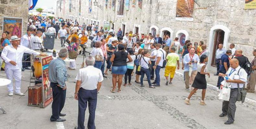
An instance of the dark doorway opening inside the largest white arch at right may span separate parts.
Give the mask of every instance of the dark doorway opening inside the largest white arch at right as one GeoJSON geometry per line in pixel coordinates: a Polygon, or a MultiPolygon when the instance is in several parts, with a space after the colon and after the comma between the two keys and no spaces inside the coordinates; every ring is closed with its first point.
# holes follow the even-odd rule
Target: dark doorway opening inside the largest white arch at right
{"type": "Polygon", "coordinates": [[[212,63],[211,65],[216,67],[215,65],[215,54],[217,49],[219,48],[219,44],[223,44],[224,43],[224,35],[225,32],[221,29],[218,29],[215,31],[215,35],[214,35],[214,45],[213,45],[213,50],[212,50],[212,54],[213,54],[213,58],[212,58],[212,63]]]}

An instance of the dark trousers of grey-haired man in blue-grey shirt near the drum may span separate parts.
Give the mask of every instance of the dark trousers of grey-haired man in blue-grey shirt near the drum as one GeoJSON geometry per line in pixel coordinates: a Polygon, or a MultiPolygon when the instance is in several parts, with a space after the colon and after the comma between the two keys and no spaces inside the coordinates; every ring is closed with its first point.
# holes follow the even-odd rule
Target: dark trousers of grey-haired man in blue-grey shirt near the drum
{"type": "Polygon", "coordinates": [[[53,95],[53,101],[52,101],[52,116],[51,121],[57,120],[60,117],[61,110],[64,107],[65,104],[65,98],[66,98],[66,89],[63,90],[61,87],[57,86],[58,83],[52,83],[52,95],[53,95]]]}

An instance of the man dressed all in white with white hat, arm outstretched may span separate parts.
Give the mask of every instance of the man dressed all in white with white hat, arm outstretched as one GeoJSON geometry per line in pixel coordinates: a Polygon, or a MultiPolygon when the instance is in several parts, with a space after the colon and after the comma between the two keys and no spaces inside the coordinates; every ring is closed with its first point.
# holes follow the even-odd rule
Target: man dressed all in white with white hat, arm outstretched
{"type": "Polygon", "coordinates": [[[20,38],[16,35],[11,36],[10,38],[11,45],[6,46],[1,54],[2,59],[5,61],[5,73],[11,83],[7,86],[8,87],[8,95],[13,95],[13,77],[15,78],[15,94],[17,95],[24,95],[20,92],[21,86],[21,68],[22,68],[22,57],[24,53],[29,53],[33,55],[42,55],[46,56],[45,54],[40,54],[34,50],[31,50],[25,46],[19,45],[20,38]]]}

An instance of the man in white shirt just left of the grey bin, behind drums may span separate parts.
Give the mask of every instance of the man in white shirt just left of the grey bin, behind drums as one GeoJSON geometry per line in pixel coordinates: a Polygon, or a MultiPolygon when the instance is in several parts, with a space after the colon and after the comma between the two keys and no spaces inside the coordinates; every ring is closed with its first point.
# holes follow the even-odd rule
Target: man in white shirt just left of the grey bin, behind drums
{"type": "Polygon", "coordinates": [[[40,38],[42,36],[41,31],[37,31],[36,35],[31,38],[29,41],[29,48],[32,50],[35,50],[37,52],[40,52],[41,49],[44,49],[44,46],[42,45],[42,39],[40,38]]]}

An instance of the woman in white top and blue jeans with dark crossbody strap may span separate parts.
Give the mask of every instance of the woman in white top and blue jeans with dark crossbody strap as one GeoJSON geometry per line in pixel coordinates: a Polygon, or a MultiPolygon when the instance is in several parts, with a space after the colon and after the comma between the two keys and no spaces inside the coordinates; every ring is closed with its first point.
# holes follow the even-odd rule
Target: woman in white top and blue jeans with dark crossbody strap
{"type": "Polygon", "coordinates": [[[144,74],[146,74],[147,76],[147,82],[149,85],[149,88],[156,88],[155,86],[152,86],[151,82],[150,82],[150,69],[148,67],[148,64],[151,65],[151,61],[150,58],[148,58],[150,56],[148,51],[144,51],[142,53],[142,57],[140,58],[140,72],[141,72],[141,78],[140,78],[140,87],[143,87],[145,85],[143,85],[143,78],[144,78],[144,74]]]}

